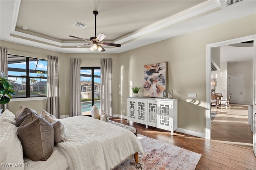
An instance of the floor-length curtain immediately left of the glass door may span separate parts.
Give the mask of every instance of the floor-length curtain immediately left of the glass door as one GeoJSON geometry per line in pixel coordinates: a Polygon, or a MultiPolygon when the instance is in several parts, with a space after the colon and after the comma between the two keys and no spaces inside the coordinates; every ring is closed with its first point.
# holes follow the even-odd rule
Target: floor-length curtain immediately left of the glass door
{"type": "Polygon", "coordinates": [[[70,59],[69,83],[69,116],[82,115],[81,90],[80,90],[80,59],[70,59]]]}

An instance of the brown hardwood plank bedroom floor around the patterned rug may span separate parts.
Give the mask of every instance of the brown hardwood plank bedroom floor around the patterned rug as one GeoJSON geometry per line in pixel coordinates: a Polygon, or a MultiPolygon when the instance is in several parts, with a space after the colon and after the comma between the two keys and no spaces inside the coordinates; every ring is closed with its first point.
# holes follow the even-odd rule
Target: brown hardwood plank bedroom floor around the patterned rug
{"type": "Polygon", "coordinates": [[[252,149],[229,144],[220,140],[206,140],[195,136],[129,122],[126,119],[111,118],[125,125],[136,127],[139,134],[169,142],[175,146],[202,154],[196,170],[256,170],[256,157],[252,149]]]}

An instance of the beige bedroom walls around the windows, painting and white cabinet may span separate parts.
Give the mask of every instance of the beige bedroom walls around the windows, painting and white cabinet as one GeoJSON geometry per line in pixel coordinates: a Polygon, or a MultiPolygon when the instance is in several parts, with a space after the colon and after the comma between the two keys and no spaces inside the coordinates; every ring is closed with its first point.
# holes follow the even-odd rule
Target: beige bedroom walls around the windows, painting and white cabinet
{"type": "MultiPolygon", "coordinates": [[[[11,42],[1,41],[0,43],[1,46],[10,49],[44,56],[58,56],[61,115],[68,115],[68,75],[71,57],[85,59],[82,60],[84,66],[91,66],[96,62],[90,59],[113,58],[113,114],[122,114],[124,109],[125,116],[127,115],[127,97],[132,95],[130,87],[136,85],[142,87],[143,66],[167,61],[167,88],[174,91],[173,98],[179,99],[178,128],[205,134],[206,45],[256,34],[255,21],[256,15],[253,14],[119,54],[65,54],[11,42]],[[121,94],[118,94],[118,91],[121,94]],[[188,93],[196,93],[197,98],[188,98],[188,93]]],[[[46,109],[42,105],[43,102],[38,103],[40,104],[34,104],[34,107],[46,109]]],[[[10,102],[10,107],[23,104],[26,103],[10,102]]]]}

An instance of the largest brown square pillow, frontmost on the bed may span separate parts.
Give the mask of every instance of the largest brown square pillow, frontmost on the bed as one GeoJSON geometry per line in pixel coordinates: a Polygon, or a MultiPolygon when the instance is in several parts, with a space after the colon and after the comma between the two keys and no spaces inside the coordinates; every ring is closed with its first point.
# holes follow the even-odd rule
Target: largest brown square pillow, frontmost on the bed
{"type": "Polygon", "coordinates": [[[54,129],[41,117],[18,127],[18,137],[24,156],[27,158],[40,161],[47,160],[51,156],[54,146],[54,129]]]}

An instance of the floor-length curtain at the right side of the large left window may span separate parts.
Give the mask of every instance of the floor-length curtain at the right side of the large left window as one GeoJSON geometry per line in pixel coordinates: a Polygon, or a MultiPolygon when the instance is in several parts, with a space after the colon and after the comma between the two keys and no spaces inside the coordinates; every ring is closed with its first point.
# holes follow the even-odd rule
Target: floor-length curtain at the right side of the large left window
{"type": "Polygon", "coordinates": [[[60,119],[58,57],[48,55],[46,111],[60,119]]]}

